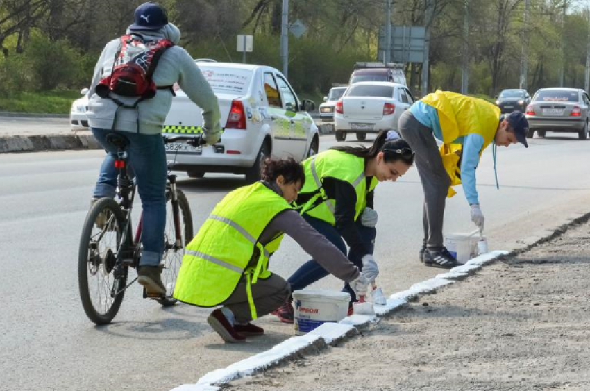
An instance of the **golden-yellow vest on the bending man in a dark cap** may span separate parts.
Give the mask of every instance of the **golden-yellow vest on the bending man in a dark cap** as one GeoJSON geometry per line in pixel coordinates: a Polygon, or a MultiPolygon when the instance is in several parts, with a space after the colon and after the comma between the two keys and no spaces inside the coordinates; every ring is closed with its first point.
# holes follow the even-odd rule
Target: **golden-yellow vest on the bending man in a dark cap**
{"type": "Polygon", "coordinates": [[[481,135],[484,138],[481,156],[496,136],[500,108],[483,99],[440,90],[426,95],[421,101],[437,109],[444,143],[441,145],[440,153],[450,178],[448,197],[453,197],[457,193],[452,186],[461,183],[459,160],[462,153],[462,144],[455,144],[453,141],[464,135],[481,135]]]}

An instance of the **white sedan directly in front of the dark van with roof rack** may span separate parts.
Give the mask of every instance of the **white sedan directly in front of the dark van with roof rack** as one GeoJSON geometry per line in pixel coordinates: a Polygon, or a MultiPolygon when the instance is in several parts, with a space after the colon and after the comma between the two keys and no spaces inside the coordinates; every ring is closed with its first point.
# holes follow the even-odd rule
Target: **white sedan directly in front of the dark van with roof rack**
{"type": "Polygon", "coordinates": [[[365,140],[366,133],[398,128],[404,110],[414,103],[405,85],[389,81],[362,81],[348,86],[336,102],[334,128],[336,140],[346,140],[347,133],[356,133],[365,140]]]}

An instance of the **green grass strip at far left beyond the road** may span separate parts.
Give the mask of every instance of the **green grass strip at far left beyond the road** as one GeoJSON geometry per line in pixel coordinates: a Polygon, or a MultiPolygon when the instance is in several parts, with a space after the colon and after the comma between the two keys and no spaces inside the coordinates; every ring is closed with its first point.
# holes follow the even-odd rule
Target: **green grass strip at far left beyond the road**
{"type": "Polygon", "coordinates": [[[71,103],[81,97],[79,90],[19,92],[9,98],[0,97],[0,111],[69,114],[71,103]]]}

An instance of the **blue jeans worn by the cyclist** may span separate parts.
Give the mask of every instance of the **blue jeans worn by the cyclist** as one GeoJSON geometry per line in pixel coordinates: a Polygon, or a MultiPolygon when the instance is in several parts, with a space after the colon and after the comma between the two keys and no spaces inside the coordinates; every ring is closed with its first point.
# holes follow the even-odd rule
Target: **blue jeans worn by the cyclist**
{"type": "Polygon", "coordinates": [[[143,208],[143,252],[140,265],[158,266],[164,251],[166,177],[168,172],[162,135],[142,135],[96,128],[91,130],[96,140],[107,151],[101,165],[99,179],[96,181],[96,188],[94,188],[93,195],[96,198],[115,198],[117,188],[117,169],[115,169],[117,147],[107,144],[106,135],[118,133],[129,140],[126,149],[128,163],[133,168],[137,192],[142,199],[143,208]]]}

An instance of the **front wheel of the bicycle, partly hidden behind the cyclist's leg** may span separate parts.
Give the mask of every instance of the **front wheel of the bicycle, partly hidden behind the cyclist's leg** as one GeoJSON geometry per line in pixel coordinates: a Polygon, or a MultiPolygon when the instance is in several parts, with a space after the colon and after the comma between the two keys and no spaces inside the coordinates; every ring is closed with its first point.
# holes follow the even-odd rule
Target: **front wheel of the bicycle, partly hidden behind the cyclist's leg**
{"type": "Polygon", "coordinates": [[[181,233],[180,244],[176,244],[176,228],[171,194],[170,192],[166,194],[166,227],[164,229],[164,254],[162,256],[162,283],[166,287],[166,294],[158,299],[158,303],[164,307],[176,304],[174,287],[176,286],[176,278],[178,278],[178,270],[180,270],[185,255],[185,246],[193,237],[192,213],[189,201],[182,191],[176,189],[176,194],[178,196],[178,219],[181,233]]]}

